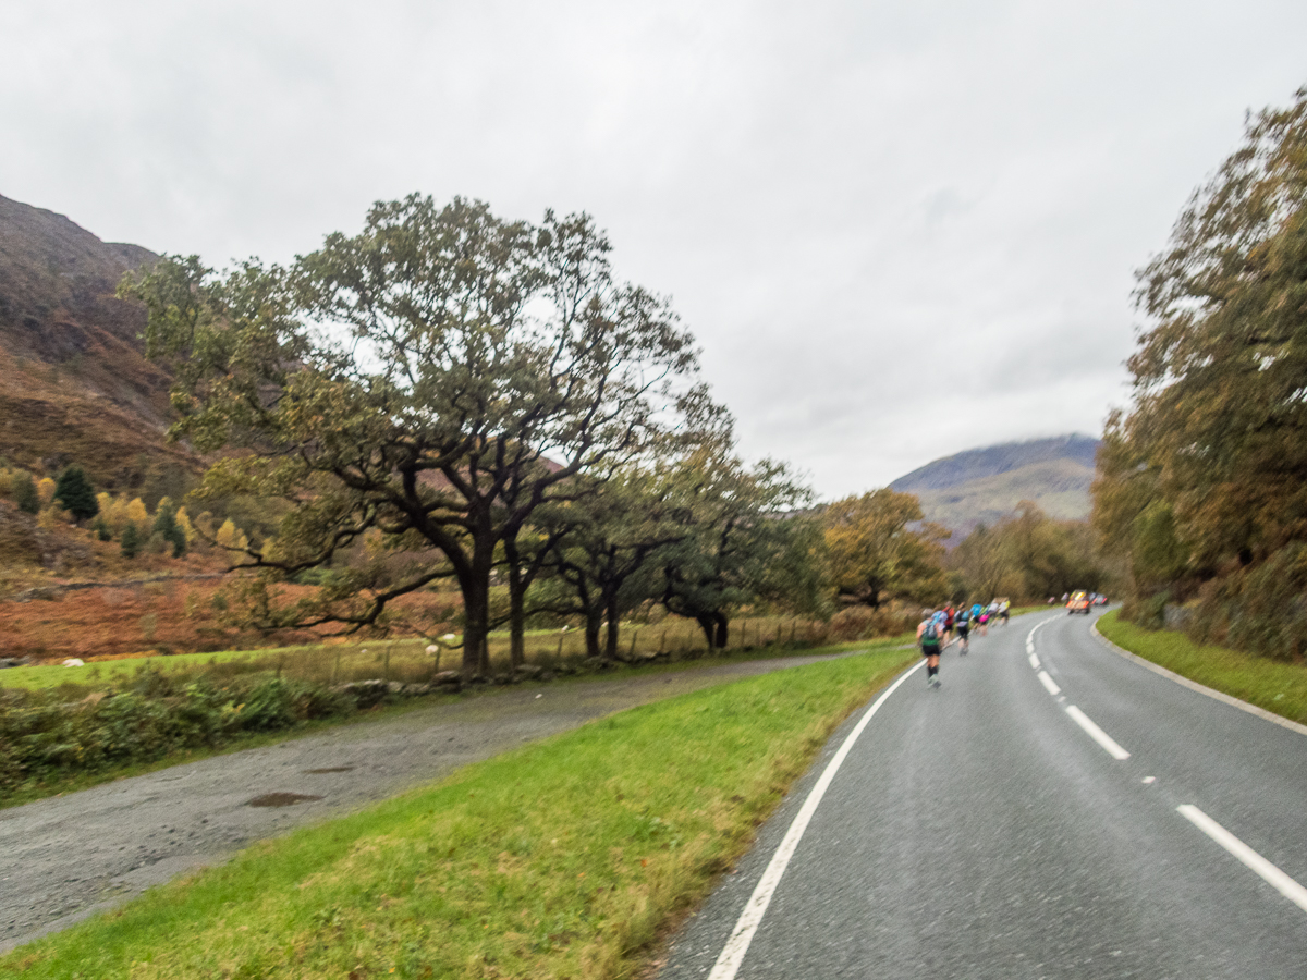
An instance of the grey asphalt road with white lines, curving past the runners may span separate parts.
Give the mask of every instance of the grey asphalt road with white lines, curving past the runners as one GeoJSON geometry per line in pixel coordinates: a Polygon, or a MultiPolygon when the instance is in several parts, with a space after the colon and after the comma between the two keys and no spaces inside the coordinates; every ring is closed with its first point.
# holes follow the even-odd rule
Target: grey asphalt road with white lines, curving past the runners
{"type": "Polygon", "coordinates": [[[843,727],[659,980],[1307,976],[1307,736],[1061,610],[941,678],[910,673],[830,777],[843,727]]]}

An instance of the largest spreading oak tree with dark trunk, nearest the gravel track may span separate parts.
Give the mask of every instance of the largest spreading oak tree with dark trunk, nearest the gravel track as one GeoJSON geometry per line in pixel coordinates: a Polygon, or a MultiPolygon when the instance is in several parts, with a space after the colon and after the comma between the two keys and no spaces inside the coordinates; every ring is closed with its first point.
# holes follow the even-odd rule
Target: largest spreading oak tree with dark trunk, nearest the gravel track
{"type": "Polygon", "coordinates": [[[604,480],[702,397],[697,351],[665,299],[620,282],[586,214],[540,225],[488,205],[379,203],[289,268],[214,276],[165,257],[124,281],[170,359],[176,438],[229,452],[201,493],[284,498],[260,572],[265,625],[375,625],[454,576],[464,669],[486,664],[490,578],[532,514],[604,480]],[[384,561],[278,605],[276,583],[358,545],[384,561]]]}

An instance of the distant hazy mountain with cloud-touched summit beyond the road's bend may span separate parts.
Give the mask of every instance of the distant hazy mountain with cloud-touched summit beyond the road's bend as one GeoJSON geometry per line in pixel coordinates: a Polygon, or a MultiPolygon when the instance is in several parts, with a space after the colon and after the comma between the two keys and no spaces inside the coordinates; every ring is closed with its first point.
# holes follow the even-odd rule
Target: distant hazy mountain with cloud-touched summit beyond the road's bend
{"type": "Polygon", "coordinates": [[[916,494],[927,520],[961,536],[1002,520],[1022,500],[1034,500],[1051,517],[1084,520],[1098,444],[1086,435],[1063,435],[967,449],[899,477],[890,489],[916,494]]]}

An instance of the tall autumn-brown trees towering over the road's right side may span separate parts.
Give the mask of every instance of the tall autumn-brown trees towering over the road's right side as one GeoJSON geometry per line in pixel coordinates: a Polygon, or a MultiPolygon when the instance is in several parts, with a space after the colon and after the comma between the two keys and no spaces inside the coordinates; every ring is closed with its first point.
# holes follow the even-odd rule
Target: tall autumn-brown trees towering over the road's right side
{"type": "Polygon", "coordinates": [[[1286,655],[1307,626],[1307,89],[1244,144],[1138,273],[1133,401],[1107,425],[1094,524],[1157,621],[1286,655]]]}

